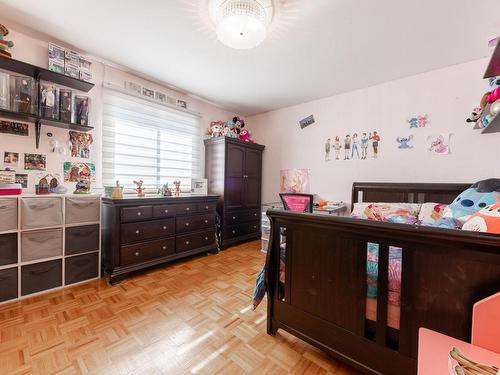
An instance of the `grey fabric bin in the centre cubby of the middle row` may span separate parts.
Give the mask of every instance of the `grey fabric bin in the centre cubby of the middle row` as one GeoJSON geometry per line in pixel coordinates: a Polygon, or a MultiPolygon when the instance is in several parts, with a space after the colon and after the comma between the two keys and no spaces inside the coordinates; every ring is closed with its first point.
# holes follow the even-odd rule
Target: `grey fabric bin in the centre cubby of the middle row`
{"type": "Polygon", "coordinates": [[[62,255],[62,229],[47,229],[21,234],[21,260],[51,258],[62,255]]]}

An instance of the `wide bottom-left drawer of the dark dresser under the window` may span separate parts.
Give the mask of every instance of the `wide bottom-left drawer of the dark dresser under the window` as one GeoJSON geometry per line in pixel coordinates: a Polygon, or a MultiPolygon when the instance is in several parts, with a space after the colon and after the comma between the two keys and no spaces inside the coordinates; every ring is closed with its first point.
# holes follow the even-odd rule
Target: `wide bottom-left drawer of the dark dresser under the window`
{"type": "Polygon", "coordinates": [[[146,262],[150,259],[164,257],[175,253],[175,241],[173,238],[164,240],[148,241],[137,245],[121,247],[121,265],[146,262]]]}

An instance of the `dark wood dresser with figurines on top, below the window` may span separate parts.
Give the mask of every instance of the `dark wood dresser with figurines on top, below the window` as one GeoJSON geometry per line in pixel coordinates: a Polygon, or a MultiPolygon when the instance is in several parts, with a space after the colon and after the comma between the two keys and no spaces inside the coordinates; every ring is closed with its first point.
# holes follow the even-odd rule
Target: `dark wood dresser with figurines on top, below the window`
{"type": "Polygon", "coordinates": [[[103,198],[102,266],[110,283],[130,272],[218,252],[217,195],[103,198]]]}

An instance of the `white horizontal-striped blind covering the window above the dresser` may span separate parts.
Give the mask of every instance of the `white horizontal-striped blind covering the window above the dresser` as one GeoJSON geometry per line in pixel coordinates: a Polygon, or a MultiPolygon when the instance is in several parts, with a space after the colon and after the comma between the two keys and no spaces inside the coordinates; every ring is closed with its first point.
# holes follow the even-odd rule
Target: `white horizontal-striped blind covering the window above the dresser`
{"type": "Polygon", "coordinates": [[[111,89],[103,93],[103,184],[146,192],[168,182],[191,188],[200,175],[201,129],[197,116],[111,89]]]}

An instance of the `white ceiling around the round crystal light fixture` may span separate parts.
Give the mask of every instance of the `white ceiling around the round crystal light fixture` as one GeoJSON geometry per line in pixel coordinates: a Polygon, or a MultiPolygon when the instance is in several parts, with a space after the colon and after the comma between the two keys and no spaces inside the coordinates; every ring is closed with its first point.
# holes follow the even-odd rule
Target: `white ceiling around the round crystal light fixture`
{"type": "Polygon", "coordinates": [[[488,56],[499,0],[276,0],[231,50],[208,0],[0,0],[0,18],[249,115],[488,56]]]}

